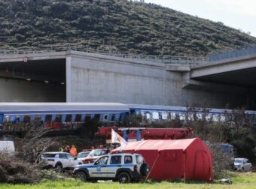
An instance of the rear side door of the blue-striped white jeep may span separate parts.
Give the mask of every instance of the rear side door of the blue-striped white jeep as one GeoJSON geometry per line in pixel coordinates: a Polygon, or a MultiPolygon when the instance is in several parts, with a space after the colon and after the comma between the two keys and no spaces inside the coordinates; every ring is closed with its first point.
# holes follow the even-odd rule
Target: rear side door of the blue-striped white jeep
{"type": "Polygon", "coordinates": [[[111,155],[109,164],[108,164],[108,178],[114,178],[117,169],[122,166],[122,156],[121,155],[111,155]]]}

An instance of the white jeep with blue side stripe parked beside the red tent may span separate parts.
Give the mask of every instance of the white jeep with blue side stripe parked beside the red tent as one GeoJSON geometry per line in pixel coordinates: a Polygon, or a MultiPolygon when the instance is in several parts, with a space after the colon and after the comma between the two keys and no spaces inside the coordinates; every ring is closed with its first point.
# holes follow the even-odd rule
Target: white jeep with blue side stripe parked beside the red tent
{"type": "Polygon", "coordinates": [[[148,164],[141,154],[107,154],[94,163],[75,166],[73,175],[82,181],[114,180],[120,183],[139,180],[148,175],[148,164]]]}

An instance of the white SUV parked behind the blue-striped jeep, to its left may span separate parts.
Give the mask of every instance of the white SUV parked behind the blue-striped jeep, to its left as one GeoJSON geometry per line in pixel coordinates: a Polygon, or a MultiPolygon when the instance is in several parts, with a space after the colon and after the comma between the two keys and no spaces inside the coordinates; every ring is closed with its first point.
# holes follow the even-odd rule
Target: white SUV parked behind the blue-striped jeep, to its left
{"type": "Polygon", "coordinates": [[[81,160],[77,160],[71,154],[66,152],[44,152],[41,154],[41,160],[45,163],[46,168],[74,169],[78,164],[82,164],[81,160]]]}

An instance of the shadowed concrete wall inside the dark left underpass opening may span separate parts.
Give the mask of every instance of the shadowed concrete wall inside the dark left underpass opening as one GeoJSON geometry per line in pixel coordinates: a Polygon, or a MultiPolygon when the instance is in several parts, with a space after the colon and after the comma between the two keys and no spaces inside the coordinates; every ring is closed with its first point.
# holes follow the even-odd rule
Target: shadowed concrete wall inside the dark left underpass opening
{"type": "Polygon", "coordinates": [[[66,86],[0,79],[0,102],[65,102],[66,86]]]}

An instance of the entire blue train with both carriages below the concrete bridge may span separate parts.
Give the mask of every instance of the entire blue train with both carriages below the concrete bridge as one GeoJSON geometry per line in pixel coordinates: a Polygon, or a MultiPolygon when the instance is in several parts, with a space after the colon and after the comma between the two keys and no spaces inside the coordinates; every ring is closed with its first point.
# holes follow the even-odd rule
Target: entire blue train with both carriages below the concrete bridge
{"type": "MultiPolygon", "coordinates": [[[[17,124],[39,121],[47,129],[61,129],[83,124],[87,120],[96,119],[103,124],[113,126],[119,121],[140,116],[143,121],[184,121],[206,118],[212,121],[226,121],[225,114],[231,110],[209,109],[207,113],[198,108],[191,113],[187,107],[171,107],[142,104],[120,103],[0,103],[0,129],[16,129],[17,124]],[[194,115],[193,115],[194,114],[194,115]]],[[[256,122],[255,111],[245,111],[245,115],[256,122]]]]}

